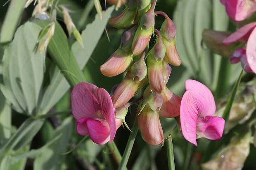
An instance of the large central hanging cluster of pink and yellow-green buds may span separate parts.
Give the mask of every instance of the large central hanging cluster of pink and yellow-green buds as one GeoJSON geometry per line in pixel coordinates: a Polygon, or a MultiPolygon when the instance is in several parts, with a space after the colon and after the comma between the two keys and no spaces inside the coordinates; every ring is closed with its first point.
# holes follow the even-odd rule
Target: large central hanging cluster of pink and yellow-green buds
{"type": "MultiPolygon", "coordinates": [[[[121,83],[112,89],[111,96],[116,118],[125,123],[130,99],[140,90],[143,100],[138,109],[138,126],[142,138],[149,145],[164,142],[159,117],[180,115],[181,98],[167,87],[171,66],[181,64],[175,46],[176,26],[162,11],[154,11],[156,0],[130,0],[126,9],[109,18],[109,24],[126,29],[121,36],[119,48],[100,67],[105,76],[126,72],[121,83]],[[154,16],[164,15],[166,20],[160,30],[154,29],[154,16]],[[156,43],[149,50],[149,41],[156,32],[156,43]],[[142,88],[147,86],[147,88],[142,88]]],[[[127,126],[127,125],[126,125],[127,126]]],[[[127,126],[128,127],[128,126],[127,126]]]]}

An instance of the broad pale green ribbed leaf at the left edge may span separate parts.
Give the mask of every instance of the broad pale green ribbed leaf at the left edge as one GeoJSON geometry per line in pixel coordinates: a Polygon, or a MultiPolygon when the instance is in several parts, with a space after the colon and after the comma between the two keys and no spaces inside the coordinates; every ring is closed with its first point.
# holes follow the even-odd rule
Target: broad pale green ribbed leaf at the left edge
{"type": "Polygon", "coordinates": [[[34,51],[41,28],[27,22],[15,33],[2,59],[1,91],[19,113],[37,115],[43,83],[43,57],[34,51]]]}

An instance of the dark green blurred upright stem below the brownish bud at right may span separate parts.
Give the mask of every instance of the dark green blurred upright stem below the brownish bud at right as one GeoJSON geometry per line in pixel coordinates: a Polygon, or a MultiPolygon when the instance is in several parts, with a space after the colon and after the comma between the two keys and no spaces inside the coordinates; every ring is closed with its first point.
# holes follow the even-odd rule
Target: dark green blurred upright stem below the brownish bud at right
{"type": "Polygon", "coordinates": [[[220,62],[220,70],[218,83],[215,90],[215,99],[225,96],[229,87],[230,61],[229,57],[222,57],[220,62]]]}

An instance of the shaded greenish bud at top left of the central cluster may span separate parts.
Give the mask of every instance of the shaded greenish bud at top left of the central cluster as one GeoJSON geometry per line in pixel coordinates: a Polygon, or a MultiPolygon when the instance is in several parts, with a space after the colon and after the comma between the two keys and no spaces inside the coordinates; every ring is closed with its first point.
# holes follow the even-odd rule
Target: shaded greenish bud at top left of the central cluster
{"type": "Polygon", "coordinates": [[[136,0],[130,0],[128,7],[124,9],[120,14],[109,18],[109,25],[112,25],[118,29],[130,28],[134,24],[134,19],[137,11],[136,0]]]}

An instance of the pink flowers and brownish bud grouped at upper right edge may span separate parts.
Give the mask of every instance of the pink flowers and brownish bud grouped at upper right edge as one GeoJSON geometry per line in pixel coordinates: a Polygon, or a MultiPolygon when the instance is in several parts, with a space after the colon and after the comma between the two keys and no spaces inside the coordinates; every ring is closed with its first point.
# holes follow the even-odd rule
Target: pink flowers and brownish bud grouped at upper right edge
{"type": "Polygon", "coordinates": [[[241,62],[248,73],[256,73],[256,22],[252,14],[256,11],[254,0],[220,0],[228,16],[239,29],[233,33],[204,30],[203,40],[214,53],[230,57],[230,62],[241,62]]]}

